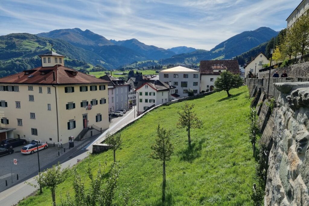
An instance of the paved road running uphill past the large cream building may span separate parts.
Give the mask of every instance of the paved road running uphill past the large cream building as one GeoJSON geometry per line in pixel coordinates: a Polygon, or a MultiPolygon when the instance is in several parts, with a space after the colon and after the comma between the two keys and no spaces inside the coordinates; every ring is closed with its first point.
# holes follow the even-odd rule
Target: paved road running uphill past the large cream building
{"type": "MultiPolygon", "coordinates": [[[[51,162],[48,165],[41,168],[41,170],[50,168],[54,164],[57,164],[57,162],[60,162],[62,167],[66,167],[69,165],[73,166],[74,164],[77,163],[77,159],[86,158],[88,156],[87,153],[92,152],[92,144],[103,138],[108,131],[112,132],[132,119],[134,119],[134,107],[133,109],[128,111],[124,116],[113,118],[112,123],[109,125],[109,128],[105,130],[102,134],[87,139],[87,141],[85,141],[82,145],[78,146],[76,149],[71,149],[69,152],[67,152],[65,155],[62,155],[54,162],[51,162]]],[[[0,205],[11,206],[17,204],[19,200],[22,200],[24,197],[31,195],[34,191],[36,191],[36,188],[31,187],[28,184],[25,184],[24,182],[26,181],[32,184],[36,184],[36,181],[33,179],[33,177],[36,176],[37,174],[38,171],[34,172],[33,174],[30,174],[20,183],[17,183],[12,187],[0,192],[0,205]]]]}

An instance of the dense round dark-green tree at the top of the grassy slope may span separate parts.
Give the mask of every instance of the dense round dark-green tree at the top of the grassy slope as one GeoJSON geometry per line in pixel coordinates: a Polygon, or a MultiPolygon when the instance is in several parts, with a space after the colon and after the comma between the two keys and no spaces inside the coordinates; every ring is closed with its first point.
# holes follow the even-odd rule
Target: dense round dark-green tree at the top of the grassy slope
{"type": "Polygon", "coordinates": [[[220,77],[214,82],[215,90],[222,91],[225,90],[227,96],[231,96],[229,90],[233,88],[238,88],[243,85],[243,80],[240,78],[239,74],[232,74],[229,71],[222,72],[220,77]]]}

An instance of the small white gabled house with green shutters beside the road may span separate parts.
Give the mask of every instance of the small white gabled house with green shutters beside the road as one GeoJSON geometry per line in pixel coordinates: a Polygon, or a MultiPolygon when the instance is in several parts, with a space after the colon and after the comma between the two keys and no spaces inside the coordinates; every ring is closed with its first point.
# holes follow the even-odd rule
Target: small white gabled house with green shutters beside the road
{"type": "Polygon", "coordinates": [[[174,86],[169,86],[159,80],[144,80],[136,88],[137,111],[142,114],[151,106],[157,106],[171,101],[174,86]]]}

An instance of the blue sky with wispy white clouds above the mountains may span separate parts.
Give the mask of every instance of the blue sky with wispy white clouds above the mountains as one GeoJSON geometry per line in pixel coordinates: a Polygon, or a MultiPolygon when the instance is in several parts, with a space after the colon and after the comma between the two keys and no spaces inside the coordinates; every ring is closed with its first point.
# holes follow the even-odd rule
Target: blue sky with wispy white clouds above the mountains
{"type": "Polygon", "coordinates": [[[107,39],[211,49],[240,32],[280,31],[301,0],[0,0],[0,35],[89,29],[107,39]]]}

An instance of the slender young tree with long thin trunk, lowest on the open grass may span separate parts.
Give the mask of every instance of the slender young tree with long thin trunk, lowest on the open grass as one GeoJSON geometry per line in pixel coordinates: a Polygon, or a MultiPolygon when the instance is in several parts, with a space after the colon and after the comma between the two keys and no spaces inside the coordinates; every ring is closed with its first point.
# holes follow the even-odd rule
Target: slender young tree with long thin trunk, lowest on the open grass
{"type": "Polygon", "coordinates": [[[171,131],[160,128],[158,124],[155,143],[151,145],[152,153],[150,157],[163,161],[163,182],[162,182],[162,202],[165,200],[165,162],[171,159],[173,145],[170,141],[171,131]]]}

